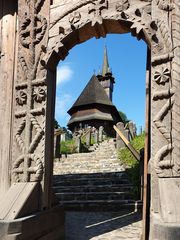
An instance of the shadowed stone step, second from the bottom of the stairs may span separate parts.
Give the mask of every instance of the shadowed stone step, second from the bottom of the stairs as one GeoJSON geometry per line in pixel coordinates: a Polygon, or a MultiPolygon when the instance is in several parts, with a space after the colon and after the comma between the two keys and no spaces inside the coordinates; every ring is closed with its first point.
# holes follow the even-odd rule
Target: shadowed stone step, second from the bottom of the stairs
{"type": "Polygon", "coordinates": [[[63,201],[88,201],[88,200],[126,200],[133,199],[130,192],[72,192],[56,193],[60,202],[63,201]]]}

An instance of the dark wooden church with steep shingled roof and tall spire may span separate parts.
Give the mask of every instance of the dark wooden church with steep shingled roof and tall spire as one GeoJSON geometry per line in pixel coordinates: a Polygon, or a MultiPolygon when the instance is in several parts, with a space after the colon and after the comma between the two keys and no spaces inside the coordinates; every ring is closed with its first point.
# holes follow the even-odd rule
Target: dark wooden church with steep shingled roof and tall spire
{"type": "Polygon", "coordinates": [[[88,84],[68,110],[71,116],[68,128],[74,132],[88,126],[104,127],[108,136],[114,135],[113,125],[122,122],[112,103],[114,77],[109,68],[107,49],[104,49],[102,73],[93,75],[88,84]]]}

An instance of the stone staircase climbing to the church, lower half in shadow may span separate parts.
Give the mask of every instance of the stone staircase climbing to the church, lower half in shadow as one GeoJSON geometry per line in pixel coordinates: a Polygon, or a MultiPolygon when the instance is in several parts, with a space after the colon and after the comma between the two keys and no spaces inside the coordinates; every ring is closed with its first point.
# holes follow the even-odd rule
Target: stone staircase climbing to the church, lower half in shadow
{"type": "Polygon", "coordinates": [[[133,211],[137,202],[132,188],[113,139],[92,152],[72,154],[54,163],[54,192],[66,210],[133,211]]]}

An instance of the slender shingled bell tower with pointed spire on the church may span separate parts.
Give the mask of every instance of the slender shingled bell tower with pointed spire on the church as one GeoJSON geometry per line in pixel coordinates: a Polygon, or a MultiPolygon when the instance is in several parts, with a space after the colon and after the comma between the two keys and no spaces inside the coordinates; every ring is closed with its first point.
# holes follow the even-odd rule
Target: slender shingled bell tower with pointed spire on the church
{"type": "Polygon", "coordinates": [[[102,66],[102,73],[97,75],[97,78],[101,85],[103,86],[105,92],[107,93],[108,98],[112,101],[113,87],[114,87],[114,77],[112,76],[112,72],[109,68],[107,48],[104,48],[104,60],[102,66]]]}

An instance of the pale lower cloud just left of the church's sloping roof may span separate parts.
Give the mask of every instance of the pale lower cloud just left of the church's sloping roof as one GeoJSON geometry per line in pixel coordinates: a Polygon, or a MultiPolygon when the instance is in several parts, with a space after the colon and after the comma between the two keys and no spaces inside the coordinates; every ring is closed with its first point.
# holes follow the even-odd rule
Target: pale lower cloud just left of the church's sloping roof
{"type": "Polygon", "coordinates": [[[55,118],[60,126],[66,126],[70,118],[67,111],[70,109],[73,102],[74,99],[67,93],[61,93],[59,96],[56,96],[55,118]]]}

